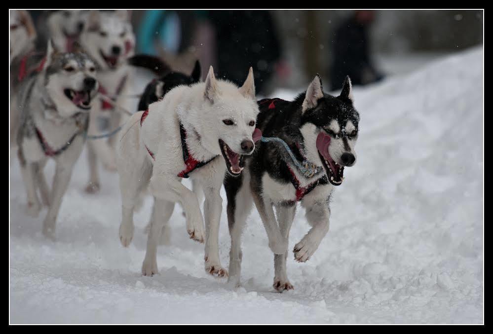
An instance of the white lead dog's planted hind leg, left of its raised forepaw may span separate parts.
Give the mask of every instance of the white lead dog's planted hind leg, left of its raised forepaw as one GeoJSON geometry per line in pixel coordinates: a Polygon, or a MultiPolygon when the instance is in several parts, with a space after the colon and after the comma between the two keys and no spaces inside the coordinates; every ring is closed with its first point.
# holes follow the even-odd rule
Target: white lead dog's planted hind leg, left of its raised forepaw
{"type": "Polygon", "coordinates": [[[152,208],[152,222],[147,238],[146,257],[142,263],[142,274],[152,276],[158,273],[157,270],[157,246],[161,237],[164,225],[168,222],[173,209],[174,202],[168,202],[154,197],[154,207],[152,208]]]}

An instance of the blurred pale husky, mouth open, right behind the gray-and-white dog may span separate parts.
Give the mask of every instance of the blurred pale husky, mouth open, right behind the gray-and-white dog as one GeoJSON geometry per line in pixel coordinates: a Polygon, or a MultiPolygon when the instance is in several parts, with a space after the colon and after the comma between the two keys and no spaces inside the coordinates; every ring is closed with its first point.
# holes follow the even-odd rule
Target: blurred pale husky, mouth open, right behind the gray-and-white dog
{"type": "MultiPolygon", "coordinates": [[[[101,117],[110,119],[110,130],[113,130],[122,122],[121,111],[115,106],[130,109],[130,101],[125,98],[134,75],[133,69],[127,64],[127,59],[134,55],[135,47],[130,12],[91,11],[80,35],[80,44],[98,64],[100,93],[111,96],[114,100],[114,105],[108,101],[101,101],[94,106],[89,121],[89,133],[102,132],[99,128],[101,117]]],[[[88,142],[90,175],[86,191],[99,190],[97,158],[101,159],[107,169],[116,171],[114,139],[115,136],[110,140],[98,139],[88,142]]]]}

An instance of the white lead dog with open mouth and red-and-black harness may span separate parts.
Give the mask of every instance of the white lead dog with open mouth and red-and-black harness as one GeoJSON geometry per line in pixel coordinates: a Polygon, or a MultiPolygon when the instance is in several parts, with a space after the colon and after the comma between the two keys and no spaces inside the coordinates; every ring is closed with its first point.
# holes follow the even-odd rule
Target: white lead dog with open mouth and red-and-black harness
{"type": "Polygon", "coordinates": [[[185,211],[190,238],[205,239],[205,270],[216,276],[228,275],[219,260],[220,189],[225,170],[240,175],[243,154],[251,154],[255,148],[252,134],[258,112],[251,68],[238,88],[216,80],[211,66],[205,83],[178,86],[127,121],[117,148],[122,199],[119,234],[122,245],[128,246],[136,201],[149,185],[154,208],[143,275],[158,273],[157,245],[175,202],[185,211]],[[189,173],[205,193],[205,235],[197,196],[181,183],[189,173]]]}

